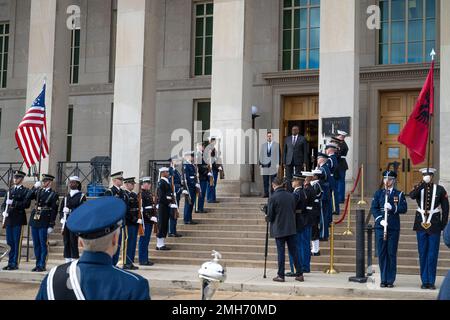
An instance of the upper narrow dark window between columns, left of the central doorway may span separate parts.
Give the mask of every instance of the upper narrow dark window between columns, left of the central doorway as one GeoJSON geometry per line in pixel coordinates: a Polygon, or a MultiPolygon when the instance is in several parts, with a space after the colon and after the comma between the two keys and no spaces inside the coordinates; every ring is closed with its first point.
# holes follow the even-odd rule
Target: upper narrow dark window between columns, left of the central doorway
{"type": "Polygon", "coordinates": [[[213,12],[212,2],[195,3],[194,75],[212,73],[213,12]]]}

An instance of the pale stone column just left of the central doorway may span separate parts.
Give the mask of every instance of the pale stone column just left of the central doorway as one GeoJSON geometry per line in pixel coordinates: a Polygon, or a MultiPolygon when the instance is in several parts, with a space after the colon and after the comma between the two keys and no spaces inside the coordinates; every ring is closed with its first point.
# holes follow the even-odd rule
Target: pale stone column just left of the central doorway
{"type": "Polygon", "coordinates": [[[238,161],[244,160],[246,150],[250,149],[239,133],[252,127],[252,74],[247,46],[251,43],[248,25],[253,3],[249,0],[214,1],[211,130],[213,134],[217,130],[222,135],[226,178],[219,181],[219,195],[250,194],[250,165],[238,161]],[[242,143],[239,146],[233,144],[233,140],[242,143]],[[241,157],[237,159],[233,153],[240,153],[241,157]]]}

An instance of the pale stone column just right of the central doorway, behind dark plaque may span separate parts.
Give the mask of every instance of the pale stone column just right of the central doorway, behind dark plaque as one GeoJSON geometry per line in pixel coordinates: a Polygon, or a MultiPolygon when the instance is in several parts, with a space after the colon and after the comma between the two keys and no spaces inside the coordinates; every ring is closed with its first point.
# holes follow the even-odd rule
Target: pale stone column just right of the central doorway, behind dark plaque
{"type": "Polygon", "coordinates": [[[320,7],[320,104],[322,119],[351,117],[347,189],[359,163],[359,0],[322,0],[320,7]]]}

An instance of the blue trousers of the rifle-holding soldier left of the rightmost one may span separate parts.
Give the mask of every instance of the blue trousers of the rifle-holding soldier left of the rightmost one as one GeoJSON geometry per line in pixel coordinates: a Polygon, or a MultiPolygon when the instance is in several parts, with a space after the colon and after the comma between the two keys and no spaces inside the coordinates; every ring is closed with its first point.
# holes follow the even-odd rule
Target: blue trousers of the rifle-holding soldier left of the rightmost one
{"type": "Polygon", "coordinates": [[[383,229],[375,229],[381,283],[394,284],[397,275],[397,249],[400,231],[389,230],[387,241],[383,240],[383,235],[383,229]]]}

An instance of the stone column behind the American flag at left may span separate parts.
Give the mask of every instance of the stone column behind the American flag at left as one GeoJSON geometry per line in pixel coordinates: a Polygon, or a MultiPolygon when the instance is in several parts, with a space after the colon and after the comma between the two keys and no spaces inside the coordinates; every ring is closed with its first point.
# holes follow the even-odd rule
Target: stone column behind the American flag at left
{"type": "Polygon", "coordinates": [[[47,82],[46,107],[50,155],[41,172],[57,174],[57,162],[66,160],[69,104],[70,30],[67,0],[31,0],[27,105],[47,82]]]}

